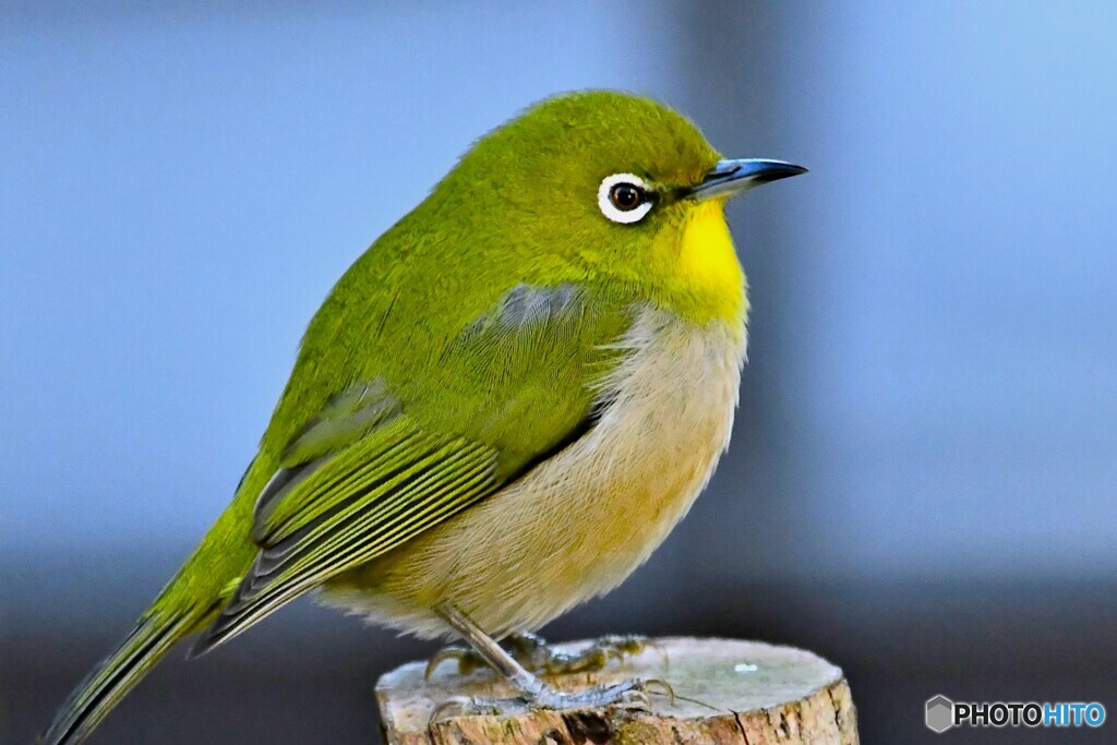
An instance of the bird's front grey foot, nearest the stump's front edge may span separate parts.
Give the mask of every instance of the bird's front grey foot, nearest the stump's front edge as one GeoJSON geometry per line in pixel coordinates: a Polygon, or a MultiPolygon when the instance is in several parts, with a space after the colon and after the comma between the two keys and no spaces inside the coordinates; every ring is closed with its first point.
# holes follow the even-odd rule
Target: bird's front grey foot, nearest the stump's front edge
{"type": "Polygon", "coordinates": [[[672,700],[675,691],[666,680],[624,680],[611,685],[594,686],[584,690],[565,691],[543,685],[534,693],[524,693],[514,698],[489,698],[484,696],[457,696],[439,704],[430,715],[433,724],[459,716],[508,715],[534,709],[591,709],[618,707],[630,710],[650,710],[648,695],[659,693],[672,700]]]}

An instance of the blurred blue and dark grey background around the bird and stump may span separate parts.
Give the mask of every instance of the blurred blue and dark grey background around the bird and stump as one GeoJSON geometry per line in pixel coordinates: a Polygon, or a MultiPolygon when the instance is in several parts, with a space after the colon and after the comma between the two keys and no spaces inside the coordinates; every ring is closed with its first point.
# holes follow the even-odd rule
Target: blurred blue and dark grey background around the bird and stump
{"type": "MultiPolygon", "coordinates": [[[[571,88],[808,176],[734,202],[737,432],[547,636],[723,634],[924,701],[1117,723],[1113,3],[0,4],[0,741],[29,743],[229,499],[305,323],[469,143],[571,88]]],[[[93,743],[372,743],[433,651],[300,601],[93,743]]]]}

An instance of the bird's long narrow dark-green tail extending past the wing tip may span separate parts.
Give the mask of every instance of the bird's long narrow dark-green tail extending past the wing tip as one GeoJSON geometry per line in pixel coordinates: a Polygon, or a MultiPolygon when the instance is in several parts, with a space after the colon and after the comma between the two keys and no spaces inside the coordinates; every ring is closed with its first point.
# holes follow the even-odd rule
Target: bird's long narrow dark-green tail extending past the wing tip
{"type": "Polygon", "coordinates": [[[63,705],[39,741],[42,745],[77,745],[179,639],[202,617],[197,612],[153,611],[95,667],[63,705]]]}

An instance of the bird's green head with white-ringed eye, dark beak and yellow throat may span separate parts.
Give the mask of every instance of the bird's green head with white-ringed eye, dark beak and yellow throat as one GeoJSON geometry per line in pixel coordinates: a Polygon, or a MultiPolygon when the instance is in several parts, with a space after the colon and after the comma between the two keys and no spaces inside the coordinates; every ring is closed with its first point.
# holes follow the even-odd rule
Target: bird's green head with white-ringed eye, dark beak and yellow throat
{"type": "Polygon", "coordinates": [[[804,170],[725,160],[667,106],[592,90],[543,101],[487,134],[431,201],[544,279],[573,271],[694,321],[736,319],[744,275],[725,202],[804,170]]]}

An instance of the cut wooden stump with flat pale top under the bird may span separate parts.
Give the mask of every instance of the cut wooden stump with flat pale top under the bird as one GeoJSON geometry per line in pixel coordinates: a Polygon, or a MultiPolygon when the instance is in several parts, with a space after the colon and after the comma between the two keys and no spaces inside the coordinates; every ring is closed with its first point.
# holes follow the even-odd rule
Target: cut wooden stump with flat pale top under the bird
{"type": "MultiPolygon", "coordinates": [[[[571,650],[589,642],[563,644],[571,650]]],[[[509,698],[515,691],[491,670],[459,675],[445,662],[429,680],[424,662],[383,676],[376,700],[388,745],[582,745],[583,743],[733,743],[853,745],[857,717],[839,668],[811,652],[755,641],[653,639],[640,655],[591,674],[548,677],[564,690],[631,678],[666,680],[675,691],[649,691],[651,710],[619,707],[525,710],[493,716],[431,713],[452,697],[509,698]]]]}

